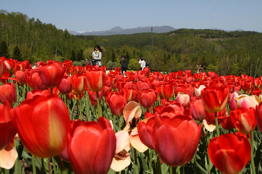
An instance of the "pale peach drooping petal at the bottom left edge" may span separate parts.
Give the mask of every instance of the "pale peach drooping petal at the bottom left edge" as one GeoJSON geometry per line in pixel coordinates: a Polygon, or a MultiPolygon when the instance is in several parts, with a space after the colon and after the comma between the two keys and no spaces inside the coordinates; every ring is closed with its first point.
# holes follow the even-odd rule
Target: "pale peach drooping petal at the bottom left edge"
{"type": "Polygon", "coordinates": [[[17,159],[18,154],[12,143],[9,143],[6,148],[0,151],[0,167],[4,169],[11,169],[15,160],[17,159]]]}

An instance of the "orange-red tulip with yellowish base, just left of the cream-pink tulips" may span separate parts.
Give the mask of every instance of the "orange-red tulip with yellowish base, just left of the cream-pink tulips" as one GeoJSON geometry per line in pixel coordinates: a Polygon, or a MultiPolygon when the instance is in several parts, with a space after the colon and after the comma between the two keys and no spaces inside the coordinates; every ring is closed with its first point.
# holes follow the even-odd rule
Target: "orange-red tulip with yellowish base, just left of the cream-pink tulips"
{"type": "Polygon", "coordinates": [[[229,90],[225,87],[204,88],[201,91],[201,99],[205,110],[208,112],[220,112],[227,104],[229,90]]]}

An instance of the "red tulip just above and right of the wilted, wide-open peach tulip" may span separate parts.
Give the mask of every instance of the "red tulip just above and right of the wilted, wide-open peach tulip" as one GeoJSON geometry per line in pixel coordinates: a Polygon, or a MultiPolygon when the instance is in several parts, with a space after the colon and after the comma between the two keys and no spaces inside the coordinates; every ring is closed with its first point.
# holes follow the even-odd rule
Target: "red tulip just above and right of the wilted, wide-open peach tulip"
{"type": "Polygon", "coordinates": [[[157,93],[153,89],[144,89],[139,91],[138,100],[139,103],[145,108],[149,109],[152,107],[157,99],[157,93]]]}

